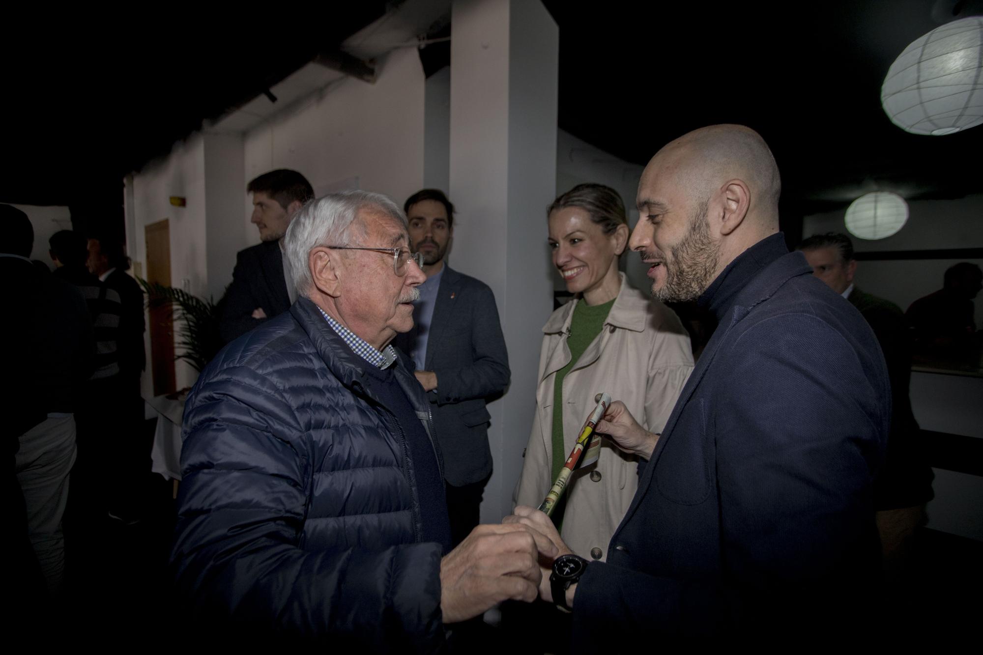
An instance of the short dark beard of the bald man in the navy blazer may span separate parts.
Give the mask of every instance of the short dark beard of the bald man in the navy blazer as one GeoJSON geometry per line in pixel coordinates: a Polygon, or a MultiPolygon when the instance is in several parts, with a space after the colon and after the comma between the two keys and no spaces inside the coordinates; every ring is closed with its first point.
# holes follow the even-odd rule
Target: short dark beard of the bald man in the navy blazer
{"type": "Polygon", "coordinates": [[[721,247],[710,238],[709,208],[708,202],[700,203],[696,214],[690,217],[686,236],[669,249],[671,267],[668,258],[663,261],[665,284],[652,290],[657,300],[664,303],[696,300],[714,281],[721,247]]]}

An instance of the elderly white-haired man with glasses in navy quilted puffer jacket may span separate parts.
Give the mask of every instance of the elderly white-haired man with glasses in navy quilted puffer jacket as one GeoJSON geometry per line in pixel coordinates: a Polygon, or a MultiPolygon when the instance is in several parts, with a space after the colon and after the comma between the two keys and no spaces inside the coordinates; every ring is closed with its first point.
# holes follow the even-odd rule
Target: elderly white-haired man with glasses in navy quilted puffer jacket
{"type": "Polygon", "coordinates": [[[285,239],[302,297],[229,344],[188,398],[179,593],[223,642],[440,650],[445,625],[535,599],[537,550],[555,550],[521,525],[449,549],[427,399],[389,344],[426,279],[402,211],[332,194],[285,239]]]}

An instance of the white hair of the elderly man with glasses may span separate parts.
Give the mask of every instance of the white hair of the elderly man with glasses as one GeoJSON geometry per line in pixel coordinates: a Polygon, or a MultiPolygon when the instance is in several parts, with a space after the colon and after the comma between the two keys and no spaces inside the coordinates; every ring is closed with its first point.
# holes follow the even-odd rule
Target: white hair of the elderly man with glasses
{"type": "MultiPolygon", "coordinates": [[[[359,211],[376,208],[407,229],[406,214],[382,194],[371,191],[342,191],[313,200],[297,211],[283,237],[285,264],[294,288],[307,295],[314,283],[308,258],[318,246],[349,246],[352,226],[359,211]]],[[[380,244],[360,244],[376,246],[380,244]]]]}

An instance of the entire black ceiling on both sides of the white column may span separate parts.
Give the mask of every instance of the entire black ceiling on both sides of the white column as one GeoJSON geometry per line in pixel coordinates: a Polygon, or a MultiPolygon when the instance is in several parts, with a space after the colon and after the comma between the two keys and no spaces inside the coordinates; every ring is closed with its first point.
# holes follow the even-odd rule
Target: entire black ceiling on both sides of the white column
{"type": "MultiPolygon", "coordinates": [[[[325,4],[301,20],[86,19],[5,39],[0,202],[118,209],[123,175],[387,5],[325,4]]],[[[624,159],[644,164],[680,134],[734,122],[774,149],[783,211],[839,208],[875,189],[983,192],[983,127],[909,135],[880,103],[897,54],[953,12],[983,12],[979,0],[545,4],[560,28],[560,127],[624,159]]]]}

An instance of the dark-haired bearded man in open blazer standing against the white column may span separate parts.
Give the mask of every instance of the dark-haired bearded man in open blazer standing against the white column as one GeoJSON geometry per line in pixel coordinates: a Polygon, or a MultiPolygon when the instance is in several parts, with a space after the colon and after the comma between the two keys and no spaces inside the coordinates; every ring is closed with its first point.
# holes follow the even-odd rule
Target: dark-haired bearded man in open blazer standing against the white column
{"type": "Polygon", "coordinates": [[[486,399],[508,387],[508,353],[488,284],[448,267],[454,206],[443,192],[424,189],[404,205],[410,244],[424,256],[427,281],[414,303],[414,327],[394,343],[416,362],[443,453],[451,541],[457,545],[480,520],[482,493],[492,475],[486,399]]]}

